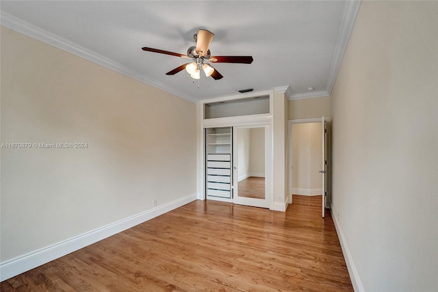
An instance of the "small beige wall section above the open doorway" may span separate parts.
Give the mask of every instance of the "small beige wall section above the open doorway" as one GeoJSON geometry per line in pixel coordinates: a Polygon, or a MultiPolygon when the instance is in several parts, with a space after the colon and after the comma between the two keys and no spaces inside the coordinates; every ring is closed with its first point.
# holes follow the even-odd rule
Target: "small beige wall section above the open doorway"
{"type": "Polygon", "coordinates": [[[330,117],[330,97],[292,99],[288,104],[289,120],[330,117]]]}

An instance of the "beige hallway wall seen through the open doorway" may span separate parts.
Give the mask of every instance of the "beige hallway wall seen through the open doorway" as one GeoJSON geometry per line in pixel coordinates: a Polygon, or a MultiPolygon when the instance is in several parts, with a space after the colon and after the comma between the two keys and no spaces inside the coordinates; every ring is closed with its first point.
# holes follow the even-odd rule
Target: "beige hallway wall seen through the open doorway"
{"type": "Polygon", "coordinates": [[[321,195],[321,123],[292,124],[292,187],[298,195],[321,195]],[[319,191],[318,193],[316,193],[319,191]]]}

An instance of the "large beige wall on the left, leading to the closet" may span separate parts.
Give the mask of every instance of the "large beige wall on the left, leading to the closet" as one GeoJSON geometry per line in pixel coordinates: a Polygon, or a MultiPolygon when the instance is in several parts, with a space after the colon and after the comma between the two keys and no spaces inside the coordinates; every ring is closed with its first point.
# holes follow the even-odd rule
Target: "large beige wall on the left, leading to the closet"
{"type": "Polygon", "coordinates": [[[196,105],[1,28],[1,261],[196,193],[196,105]]]}

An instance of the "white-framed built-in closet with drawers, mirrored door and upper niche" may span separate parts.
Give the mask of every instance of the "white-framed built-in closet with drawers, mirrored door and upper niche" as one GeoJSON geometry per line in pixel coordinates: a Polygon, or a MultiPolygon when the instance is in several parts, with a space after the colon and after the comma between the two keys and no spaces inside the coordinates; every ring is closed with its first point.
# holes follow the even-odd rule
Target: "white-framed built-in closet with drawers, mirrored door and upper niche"
{"type": "Polygon", "coordinates": [[[272,91],[251,93],[240,98],[224,97],[205,101],[201,103],[201,117],[203,199],[270,208],[272,205],[272,91]],[[260,145],[258,149],[262,150],[257,154],[259,156],[257,159],[252,156],[250,158],[249,155],[252,145],[249,137],[253,132],[251,129],[261,131],[259,134],[261,140],[257,144],[260,145]],[[243,139],[244,141],[243,134],[237,134],[242,132],[247,133],[248,136],[243,139]],[[246,151],[242,152],[239,145],[246,151]],[[264,168],[250,171],[251,162],[254,162],[254,165],[267,164],[268,167],[266,171],[264,168]],[[245,178],[238,177],[242,176],[242,171],[245,178]],[[259,187],[262,195],[257,198],[246,195],[244,186],[238,187],[242,180],[248,178],[249,181],[255,176],[259,178],[258,182],[263,180],[263,186],[259,187]]]}

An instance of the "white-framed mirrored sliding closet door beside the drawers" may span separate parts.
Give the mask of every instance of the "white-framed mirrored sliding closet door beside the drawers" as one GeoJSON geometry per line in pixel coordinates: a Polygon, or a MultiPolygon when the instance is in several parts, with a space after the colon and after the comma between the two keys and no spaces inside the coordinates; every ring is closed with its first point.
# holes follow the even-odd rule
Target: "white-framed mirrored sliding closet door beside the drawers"
{"type": "Polygon", "coordinates": [[[268,125],[233,127],[233,202],[270,208],[268,125]]]}

